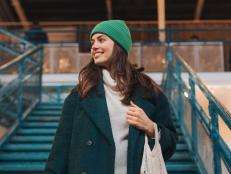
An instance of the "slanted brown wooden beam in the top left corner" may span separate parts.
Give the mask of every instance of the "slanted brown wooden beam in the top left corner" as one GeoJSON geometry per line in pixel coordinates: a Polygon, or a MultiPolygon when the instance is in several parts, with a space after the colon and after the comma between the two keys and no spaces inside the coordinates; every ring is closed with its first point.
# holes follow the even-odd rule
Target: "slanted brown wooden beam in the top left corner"
{"type": "MultiPolygon", "coordinates": [[[[14,7],[17,15],[18,15],[18,18],[19,18],[20,22],[22,23],[22,25],[23,25],[23,23],[28,22],[27,17],[26,17],[26,15],[24,13],[24,10],[22,8],[22,5],[20,3],[20,0],[11,0],[11,3],[13,5],[13,7],[14,7]]],[[[29,26],[28,25],[23,25],[23,28],[24,29],[29,29],[29,26]]]]}

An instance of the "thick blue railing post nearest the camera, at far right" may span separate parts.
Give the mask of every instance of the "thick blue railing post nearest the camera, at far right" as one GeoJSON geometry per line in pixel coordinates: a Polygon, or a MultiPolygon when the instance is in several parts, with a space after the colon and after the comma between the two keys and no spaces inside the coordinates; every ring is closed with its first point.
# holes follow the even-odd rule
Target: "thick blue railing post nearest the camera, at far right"
{"type": "Polygon", "coordinates": [[[219,146],[218,146],[218,133],[219,126],[218,126],[218,115],[216,109],[214,107],[214,103],[209,101],[209,115],[211,116],[211,137],[213,140],[213,162],[214,162],[214,173],[221,173],[221,157],[219,154],[219,146]]]}

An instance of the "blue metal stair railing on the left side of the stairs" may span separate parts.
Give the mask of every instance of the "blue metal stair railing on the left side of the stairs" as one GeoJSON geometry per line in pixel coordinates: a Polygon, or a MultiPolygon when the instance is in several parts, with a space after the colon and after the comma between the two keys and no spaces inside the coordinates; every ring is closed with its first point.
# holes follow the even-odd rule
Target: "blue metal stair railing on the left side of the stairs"
{"type": "Polygon", "coordinates": [[[8,138],[20,121],[41,100],[42,47],[36,47],[0,67],[0,118],[13,119],[8,138]]]}

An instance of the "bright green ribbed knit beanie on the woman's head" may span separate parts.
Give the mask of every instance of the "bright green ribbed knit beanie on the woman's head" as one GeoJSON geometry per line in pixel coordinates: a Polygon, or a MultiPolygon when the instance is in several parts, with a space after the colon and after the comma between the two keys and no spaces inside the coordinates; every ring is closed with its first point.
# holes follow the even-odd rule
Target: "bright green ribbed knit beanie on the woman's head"
{"type": "Polygon", "coordinates": [[[91,31],[90,38],[96,33],[103,33],[115,41],[127,53],[132,47],[129,28],[122,20],[108,20],[98,23],[91,31]]]}

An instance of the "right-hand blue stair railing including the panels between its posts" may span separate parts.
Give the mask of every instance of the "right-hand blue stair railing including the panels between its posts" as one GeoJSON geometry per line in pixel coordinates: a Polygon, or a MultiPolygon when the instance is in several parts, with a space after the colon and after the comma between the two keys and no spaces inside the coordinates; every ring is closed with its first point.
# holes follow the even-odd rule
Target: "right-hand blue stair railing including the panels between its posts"
{"type": "Polygon", "coordinates": [[[218,121],[222,120],[223,126],[230,131],[231,113],[213,96],[173,47],[167,48],[166,57],[168,69],[165,89],[201,173],[218,174],[222,170],[231,173],[231,150],[220,134],[218,121]],[[198,91],[202,92],[209,103],[207,114],[198,101],[198,91]],[[209,143],[210,153],[201,153],[201,149],[209,143]],[[208,157],[212,159],[211,164],[208,157]]]}

